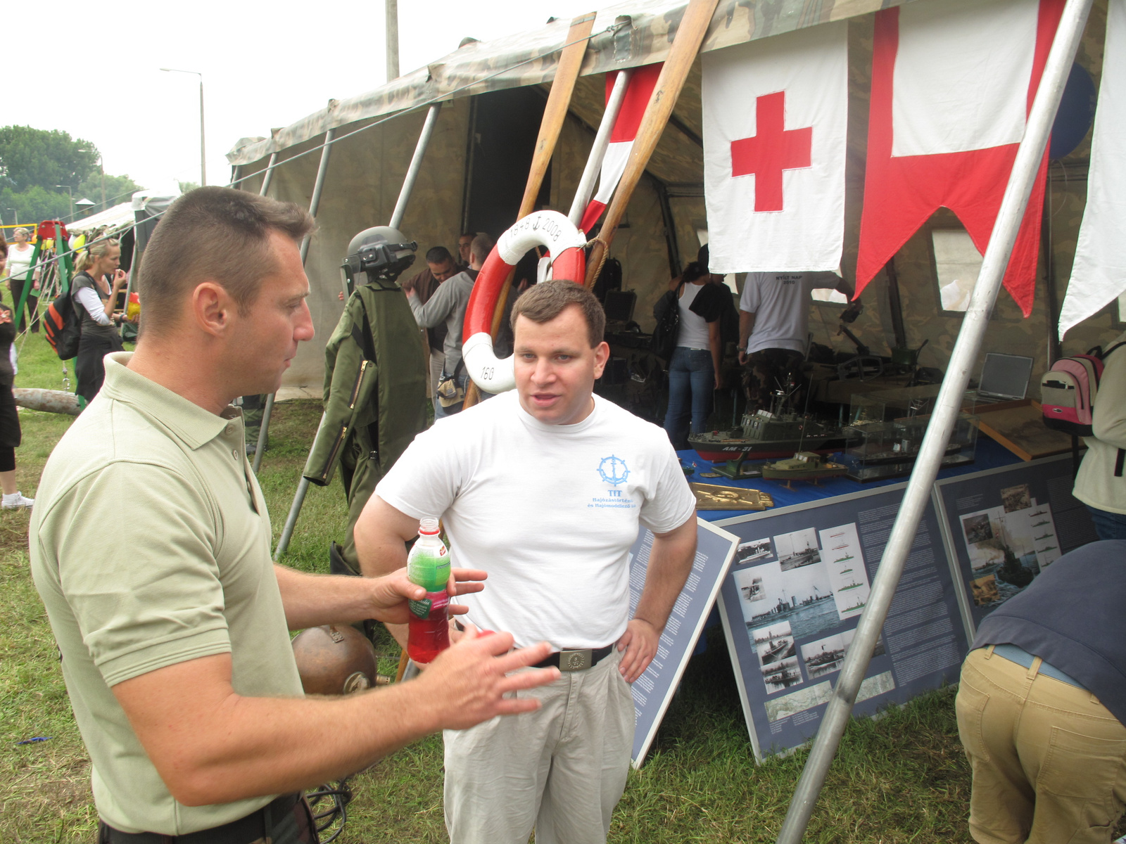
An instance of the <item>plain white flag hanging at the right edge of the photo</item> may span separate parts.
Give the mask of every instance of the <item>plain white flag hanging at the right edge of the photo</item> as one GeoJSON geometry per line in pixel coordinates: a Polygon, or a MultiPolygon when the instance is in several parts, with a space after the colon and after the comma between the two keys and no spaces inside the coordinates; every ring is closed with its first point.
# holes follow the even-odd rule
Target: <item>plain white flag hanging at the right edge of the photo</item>
{"type": "Polygon", "coordinates": [[[1126,0],[1110,0],[1087,208],[1060,312],[1060,338],[1126,293],[1126,0]]]}

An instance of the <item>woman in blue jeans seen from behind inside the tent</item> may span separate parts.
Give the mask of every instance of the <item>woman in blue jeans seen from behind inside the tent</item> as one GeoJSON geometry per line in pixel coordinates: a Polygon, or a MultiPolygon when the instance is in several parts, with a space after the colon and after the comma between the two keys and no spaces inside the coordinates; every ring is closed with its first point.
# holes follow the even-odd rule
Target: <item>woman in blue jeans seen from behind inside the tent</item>
{"type": "MultiPolygon", "coordinates": [[[[708,284],[711,280],[707,267],[692,261],[680,279],[670,282],[680,311],[680,325],[677,348],[669,360],[669,406],[664,414],[664,430],[676,448],[687,447],[689,430],[691,433],[705,430],[712,413],[713,390],[721,386],[723,345],[720,317],[723,300],[721,291],[708,284]]],[[[668,294],[662,302],[671,306],[668,294]]]]}

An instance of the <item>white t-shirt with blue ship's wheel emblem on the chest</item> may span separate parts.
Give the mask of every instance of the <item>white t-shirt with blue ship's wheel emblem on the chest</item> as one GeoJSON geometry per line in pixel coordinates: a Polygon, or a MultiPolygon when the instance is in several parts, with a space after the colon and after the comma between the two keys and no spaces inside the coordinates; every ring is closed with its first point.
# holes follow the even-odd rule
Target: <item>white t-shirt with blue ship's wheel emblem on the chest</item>
{"type": "Polygon", "coordinates": [[[471,622],[556,649],[625,632],[638,524],[663,533],[696,508],[656,425],[598,396],[582,422],[548,425],[516,390],[420,433],[375,493],[412,518],[440,515],[450,564],[489,572],[484,591],[457,599],[471,622]]]}

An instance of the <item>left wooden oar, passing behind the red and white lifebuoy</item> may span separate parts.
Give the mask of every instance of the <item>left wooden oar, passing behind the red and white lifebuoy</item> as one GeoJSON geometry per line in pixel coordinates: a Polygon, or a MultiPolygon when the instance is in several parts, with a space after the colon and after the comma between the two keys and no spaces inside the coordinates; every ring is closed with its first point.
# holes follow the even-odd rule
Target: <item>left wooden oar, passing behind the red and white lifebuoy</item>
{"type": "MultiPolygon", "coordinates": [[[[539,188],[544,183],[544,176],[547,173],[547,165],[552,162],[552,154],[555,152],[555,143],[563,131],[563,123],[566,120],[568,109],[571,107],[571,96],[574,93],[574,83],[579,79],[579,70],[582,68],[582,56],[587,52],[590,30],[595,26],[595,12],[580,15],[571,21],[568,30],[566,44],[560,54],[560,62],[555,68],[555,78],[552,80],[552,92],[547,95],[547,104],[544,106],[544,117],[539,122],[539,135],[536,137],[536,149],[531,155],[531,167],[528,170],[528,182],[524,188],[524,198],[520,200],[520,210],[516,218],[521,219],[536,209],[536,197],[539,196],[539,188]]],[[[508,305],[508,294],[512,289],[512,276],[504,281],[501,288],[500,298],[497,300],[497,309],[493,311],[493,321],[490,333],[495,339],[500,329],[500,321],[504,318],[504,307],[508,305]]],[[[472,407],[481,398],[477,385],[472,380],[465,393],[464,407],[472,407]]]]}

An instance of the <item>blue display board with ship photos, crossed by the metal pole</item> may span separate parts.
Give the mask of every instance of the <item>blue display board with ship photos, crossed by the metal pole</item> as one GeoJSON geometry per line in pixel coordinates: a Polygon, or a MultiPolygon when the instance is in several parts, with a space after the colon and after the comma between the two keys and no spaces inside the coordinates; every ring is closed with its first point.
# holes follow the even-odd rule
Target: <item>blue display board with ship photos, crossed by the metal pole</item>
{"type": "MultiPolygon", "coordinates": [[[[720,592],[754,757],[817,731],[905,484],[717,522],[739,537],[720,592]]],[[[967,640],[932,504],[857,695],[872,715],[956,682],[967,640]]]]}

